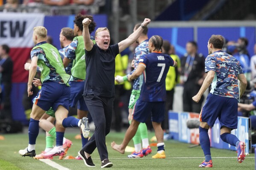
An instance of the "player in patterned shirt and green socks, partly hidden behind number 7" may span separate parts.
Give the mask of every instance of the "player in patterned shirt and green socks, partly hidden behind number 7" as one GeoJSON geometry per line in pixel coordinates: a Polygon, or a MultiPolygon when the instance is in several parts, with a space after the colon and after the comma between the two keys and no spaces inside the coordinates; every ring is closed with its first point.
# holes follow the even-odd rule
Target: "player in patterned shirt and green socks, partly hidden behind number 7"
{"type": "MultiPolygon", "coordinates": [[[[138,27],[140,27],[141,24],[136,24],[133,32],[135,32],[138,27]]],[[[148,37],[147,37],[147,27],[144,28],[143,32],[141,35],[138,37],[138,40],[136,40],[139,45],[135,48],[135,54],[134,54],[134,70],[129,73],[128,75],[132,75],[132,73],[136,70],[139,59],[141,58],[142,55],[146,55],[149,53],[149,48],[148,48],[148,37]]],[[[115,80],[118,83],[122,83],[124,81],[128,80],[128,75],[125,76],[119,76],[117,75],[115,80]]],[[[132,89],[132,94],[130,96],[130,101],[129,101],[129,115],[128,115],[128,120],[129,123],[132,121],[132,110],[134,108],[134,105],[136,101],[138,100],[140,93],[141,93],[141,85],[142,85],[142,75],[139,76],[134,80],[133,83],[133,89],[132,89]]],[[[135,136],[132,138],[135,151],[132,152],[132,154],[128,155],[128,158],[141,158],[143,156],[147,156],[152,152],[150,146],[149,146],[149,141],[148,141],[148,136],[147,136],[147,125],[145,123],[141,123],[138,126],[138,130],[135,134],[135,136]],[[141,141],[142,141],[142,148],[141,148],[141,141]]]]}

